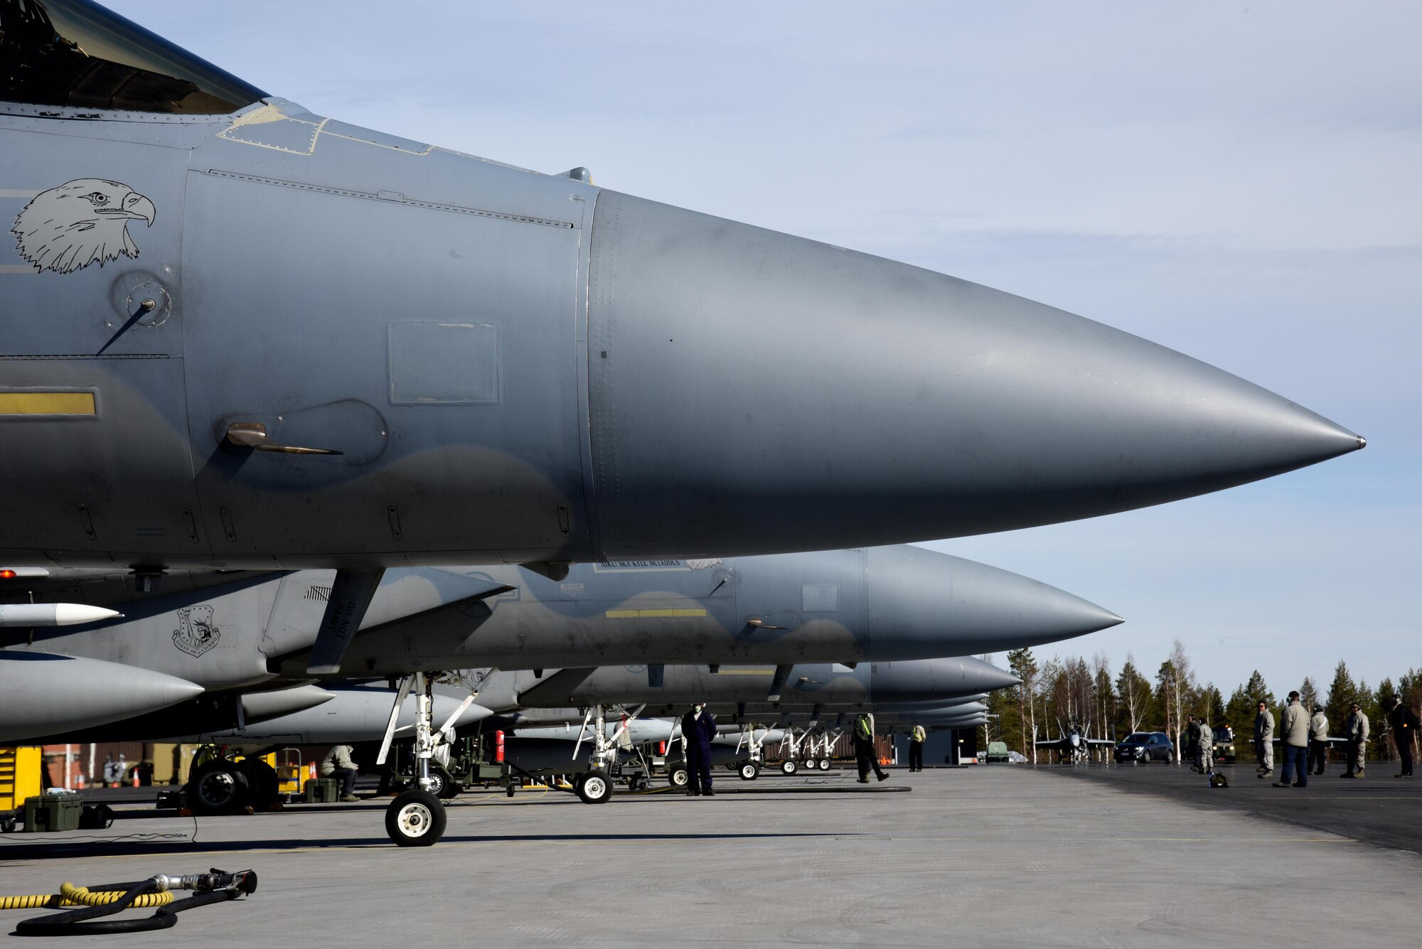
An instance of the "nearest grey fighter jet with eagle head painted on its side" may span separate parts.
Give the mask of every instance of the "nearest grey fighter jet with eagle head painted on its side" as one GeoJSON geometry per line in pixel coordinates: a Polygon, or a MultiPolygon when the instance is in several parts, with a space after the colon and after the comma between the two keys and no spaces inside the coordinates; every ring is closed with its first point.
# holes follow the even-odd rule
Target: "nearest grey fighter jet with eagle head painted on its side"
{"type": "Polygon", "coordinates": [[[0,21],[0,561],[340,567],[336,624],[383,567],[1012,530],[1364,445],[1021,297],[313,114],[88,0],[0,21]]]}

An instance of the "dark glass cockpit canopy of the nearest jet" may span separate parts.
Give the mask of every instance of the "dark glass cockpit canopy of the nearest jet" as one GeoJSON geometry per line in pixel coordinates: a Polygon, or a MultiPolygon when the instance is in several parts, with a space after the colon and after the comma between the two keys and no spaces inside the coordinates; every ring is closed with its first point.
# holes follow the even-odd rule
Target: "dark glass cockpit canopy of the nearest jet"
{"type": "Polygon", "coordinates": [[[266,97],[90,0],[0,0],[0,101],[226,115],[266,97]]]}

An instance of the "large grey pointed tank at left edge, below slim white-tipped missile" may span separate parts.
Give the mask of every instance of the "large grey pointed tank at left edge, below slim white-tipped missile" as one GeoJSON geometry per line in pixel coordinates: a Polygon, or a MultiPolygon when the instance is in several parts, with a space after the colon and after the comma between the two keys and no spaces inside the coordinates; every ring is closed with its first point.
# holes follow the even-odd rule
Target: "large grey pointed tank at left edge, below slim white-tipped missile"
{"type": "Polygon", "coordinates": [[[117,662],[0,649],[0,742],[166,709],[202,690],[176,676],[117,662]]]}

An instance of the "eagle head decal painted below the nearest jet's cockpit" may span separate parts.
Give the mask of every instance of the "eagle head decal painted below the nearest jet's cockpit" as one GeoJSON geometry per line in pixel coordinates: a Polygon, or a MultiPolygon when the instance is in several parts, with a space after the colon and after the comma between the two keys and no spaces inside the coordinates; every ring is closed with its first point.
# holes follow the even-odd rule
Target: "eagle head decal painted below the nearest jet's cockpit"
{"type": "Polygon", "coordinates": [[[154,226],[154,202],[128,185],[102,178],[75,178],[40,192],[24,206],[10,233],[20,256],[37,270],[67,274],[98,261],[138,256],[128,222],[154,226]]]}

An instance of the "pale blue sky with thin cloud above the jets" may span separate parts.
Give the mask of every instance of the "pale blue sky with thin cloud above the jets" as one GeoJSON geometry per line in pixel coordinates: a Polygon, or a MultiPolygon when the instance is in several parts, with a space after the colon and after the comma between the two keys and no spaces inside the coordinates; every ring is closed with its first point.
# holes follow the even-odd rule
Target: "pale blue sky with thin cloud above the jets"
{"type": "Polygon", "coordinates": [[[931,546],[1126,617],[1061,646],[1116,669],[1175,636],[1226,692],[1422,666],[1422,7],[112,6],[314,112],[1042,300],[1361,432],[1258,484],[931,546]]]}

